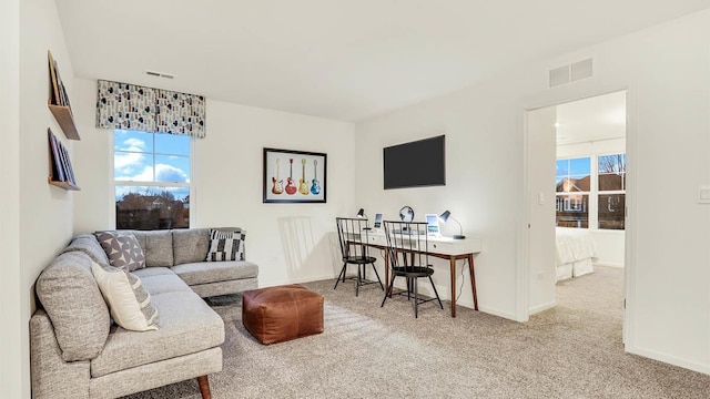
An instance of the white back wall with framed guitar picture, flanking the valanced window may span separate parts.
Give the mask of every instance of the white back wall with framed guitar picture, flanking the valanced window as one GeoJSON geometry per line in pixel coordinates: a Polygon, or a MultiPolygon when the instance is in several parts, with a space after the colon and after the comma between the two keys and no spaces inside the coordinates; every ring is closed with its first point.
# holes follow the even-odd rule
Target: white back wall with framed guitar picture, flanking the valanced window
{"type": "MultiPolygon", "coordinates": [[[[81,193],[74,232],[113,228],[112,133],[95,129],[97,83],[77,79],[75,144],[81,193]]],[[[260,285],[333,278],[339,270],[328,232],[335,216],[354,215],[352,123],[207,100],[206,137],[194,145],[191,226],[240,226],[246,256],[260,265],[260,285]],[[263,204],[263,149],[327,154],[325,204],[263,204]]],[[[296,172],[294,172],[296,173],[296,172]]],[[[323,177],[322,177],[323,178],[323,177]]]]}

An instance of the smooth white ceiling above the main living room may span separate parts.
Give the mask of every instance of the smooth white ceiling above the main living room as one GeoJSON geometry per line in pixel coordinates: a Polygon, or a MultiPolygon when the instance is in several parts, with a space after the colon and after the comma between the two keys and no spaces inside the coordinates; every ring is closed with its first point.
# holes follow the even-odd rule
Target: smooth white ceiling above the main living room
{"type": "Polygon", "coordinates": [[[359,121],[710,4],[57,0],[57,7],[77,76],[359,121]]]}

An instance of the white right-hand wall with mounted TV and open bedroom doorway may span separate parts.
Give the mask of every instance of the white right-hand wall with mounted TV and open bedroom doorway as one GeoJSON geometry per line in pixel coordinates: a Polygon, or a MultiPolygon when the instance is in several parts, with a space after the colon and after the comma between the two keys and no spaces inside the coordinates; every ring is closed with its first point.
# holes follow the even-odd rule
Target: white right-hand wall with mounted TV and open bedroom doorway
{"type": "MultiPolygon", "coordinates": [[[[527,282],[517,256],[527,206],[520,201],[524,110],[628,88],[633,214],[627,280],[633,283],[627,285],[626,348],[710,372],[710,206],[696,201],[698,185],[710,183],[709,53],[706,10],[358,123],[358,160],[446,133],[448,173],[445,187],[384,191],[375,157],[358,166],[356,203],[390,217],[405,204],[417,215],[449,208],[468,235],[484,239],[476,259],[480,309],[525,319],[528,298],[516,288],[527,282]],[[549,69],[588,57],[594,78],[548,89],[549,69]],[[689,167],[679,173],[669,165],[689,167]]],[[[462,304],[470,306],[470,298],[462,304]]]]}

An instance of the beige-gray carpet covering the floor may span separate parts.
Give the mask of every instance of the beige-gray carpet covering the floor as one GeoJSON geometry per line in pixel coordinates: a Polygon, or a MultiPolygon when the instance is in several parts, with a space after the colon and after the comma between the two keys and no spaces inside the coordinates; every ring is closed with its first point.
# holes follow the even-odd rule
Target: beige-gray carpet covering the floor
{"type": "MultiPolygon", "coordinates": [[[[622,269],[559,283],[558,305],[519,324],[435,303],[415,319],[405,297],[379,307],[379,286],[305,284],[325,296],[325,332],[262,346],[239,296],[215,298],[226,324],[222,398],[708,398],[710,376],[623,352],[622,269]]],[[[200,398],[196,381],[131,399],[200,398]]]]}

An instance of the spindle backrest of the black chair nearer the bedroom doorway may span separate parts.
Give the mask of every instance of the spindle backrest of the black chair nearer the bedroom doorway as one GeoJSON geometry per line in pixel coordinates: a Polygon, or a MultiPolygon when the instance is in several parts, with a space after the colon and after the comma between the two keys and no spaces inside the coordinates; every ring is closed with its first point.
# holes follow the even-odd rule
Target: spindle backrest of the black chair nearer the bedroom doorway
{"type": "Polygon", "coordinates": [[[389,247],[389,265],[394,267],[430,267],[429,239],[424,222],[385,222],[389,247]]]}

